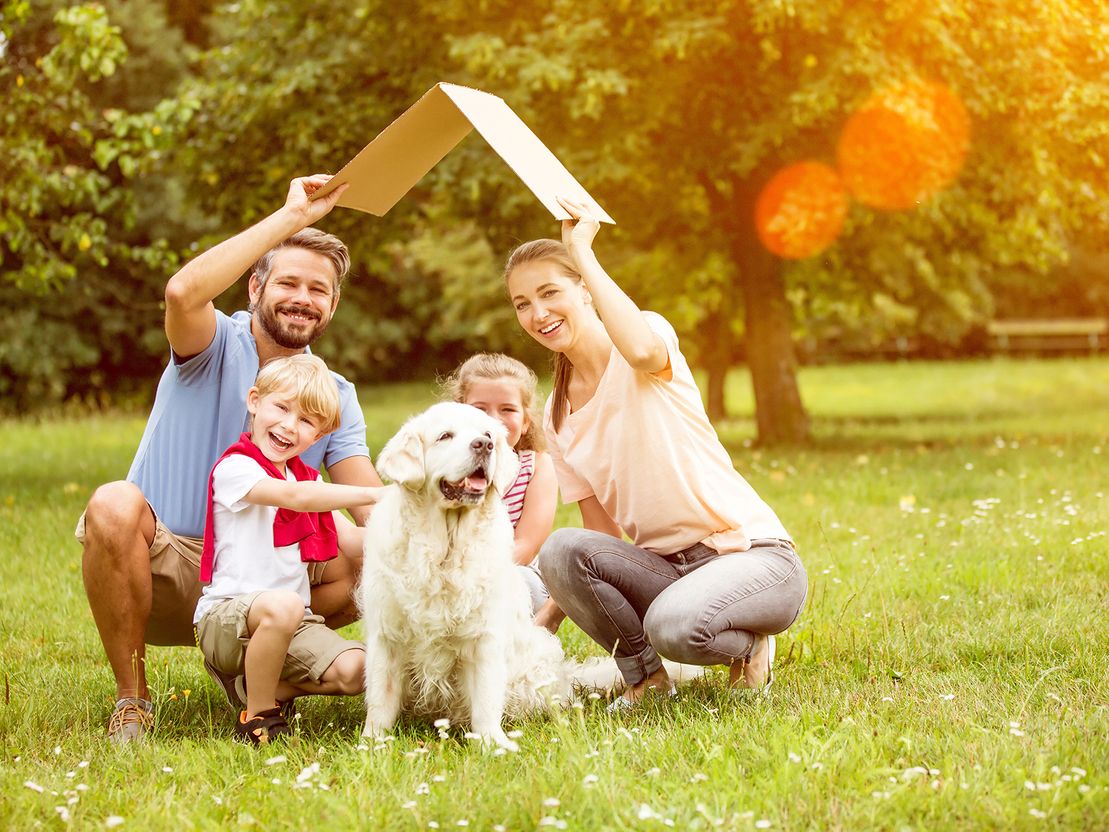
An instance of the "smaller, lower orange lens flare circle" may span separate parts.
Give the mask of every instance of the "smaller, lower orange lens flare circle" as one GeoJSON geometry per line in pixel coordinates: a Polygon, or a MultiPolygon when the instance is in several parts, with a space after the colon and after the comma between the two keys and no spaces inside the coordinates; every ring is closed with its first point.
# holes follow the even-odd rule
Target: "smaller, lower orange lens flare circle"
{"type": "Polygon", "coordinates": [[[783,168],[759,194],[755,227],[762,244],[786,260],[820,254],[835,242],[847,215],[840,175],[821,162],[783,168]]]}

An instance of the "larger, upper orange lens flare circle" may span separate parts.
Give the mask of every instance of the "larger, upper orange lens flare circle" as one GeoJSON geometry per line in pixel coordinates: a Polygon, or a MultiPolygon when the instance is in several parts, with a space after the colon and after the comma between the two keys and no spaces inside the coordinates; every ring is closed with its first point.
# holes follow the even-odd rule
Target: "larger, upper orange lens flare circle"
{"type": "Polygon", "coordinates": [[[939,83],[908,81],[878,90],[847,120],[836,149],[840,175],[859,202],[914,207],[963,169],[970,119],[939,83]]]}

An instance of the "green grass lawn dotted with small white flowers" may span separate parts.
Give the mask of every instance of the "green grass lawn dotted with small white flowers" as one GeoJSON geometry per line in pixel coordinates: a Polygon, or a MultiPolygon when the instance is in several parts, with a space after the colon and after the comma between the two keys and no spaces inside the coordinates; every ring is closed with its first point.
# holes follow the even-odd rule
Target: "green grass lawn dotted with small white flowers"
{"type": "MultiPolygon", "coordinates": [[[[153,740],[111,747],[72,526],[142,419],[3,423],[3,825],[59,828],[63,809],[143,830],[1109,828],[1109,361],[805,369],[816,442],[791,450],[751,447],[731,382],[721,435],[812,585],[773,694],[732,699],[714,671],[629,716],[528,720],[508,755],[418,722],[362,743],[357,699],[302,700],[286,747],[245,748],[182,648],[149,653],[153,740]]],[[[374,448],[434,395],[363,394],[374,448]]]]}

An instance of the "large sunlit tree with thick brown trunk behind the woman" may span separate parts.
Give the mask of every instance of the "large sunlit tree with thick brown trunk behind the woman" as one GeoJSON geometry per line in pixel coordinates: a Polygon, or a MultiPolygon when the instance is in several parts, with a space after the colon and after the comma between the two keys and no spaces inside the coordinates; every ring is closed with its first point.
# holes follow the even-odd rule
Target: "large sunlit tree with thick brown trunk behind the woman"
{"type": "MultiPolygon", "coordinates": [[[[998,270],[1044,274],[1109,220],[1099,3],[540,6],[549,13],[456,40],[455,54],[576,149],[571,170],[624,220],[629,246],[663,241],[694,280],[699,263],[726,261],[737,291],[706,296],[701,357],[719,389],[737,296],[763,442],[808,433],[792,310],[885,307],[902,326],[955,334],[988,312],[998,270]],[[766,181],[791,162],[834,160],[854,108],[917,79],[947,84],[971,114],[958,183],[910,212],[855,205],[820,260],[764,248],[753,219],[766,181]]],[[[672,296],[691,288],[678,277],[672,296]]]]}

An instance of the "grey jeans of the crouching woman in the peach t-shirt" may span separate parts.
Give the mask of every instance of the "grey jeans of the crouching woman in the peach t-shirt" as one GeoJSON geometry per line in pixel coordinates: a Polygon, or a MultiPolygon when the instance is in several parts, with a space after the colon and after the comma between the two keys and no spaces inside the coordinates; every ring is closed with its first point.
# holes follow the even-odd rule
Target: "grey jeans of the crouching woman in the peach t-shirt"
{"type": "Polygon", "coordinates": [[[720,555],[696,544],[665,558],[587,529],[558,529],[539,552],[559,607],[613,655],[628,684],[662,667],[746,659],[756,635],[801,613],[808,580],[784,540],[752,540],[720,555]]]}

